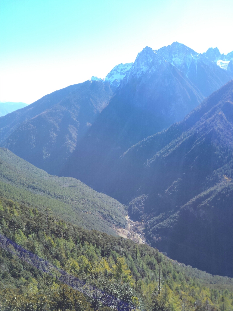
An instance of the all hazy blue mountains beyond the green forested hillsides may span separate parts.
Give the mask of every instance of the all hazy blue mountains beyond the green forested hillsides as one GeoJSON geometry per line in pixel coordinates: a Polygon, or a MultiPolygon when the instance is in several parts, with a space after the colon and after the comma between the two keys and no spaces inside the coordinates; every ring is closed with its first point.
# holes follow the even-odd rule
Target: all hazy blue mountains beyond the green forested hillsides
{"type": "Polygon", "coordinates": [[[233,52],[146,47],[1,117],[1,146],[127,205],[171,258],[233,276],[232,78],[233,52]]]}

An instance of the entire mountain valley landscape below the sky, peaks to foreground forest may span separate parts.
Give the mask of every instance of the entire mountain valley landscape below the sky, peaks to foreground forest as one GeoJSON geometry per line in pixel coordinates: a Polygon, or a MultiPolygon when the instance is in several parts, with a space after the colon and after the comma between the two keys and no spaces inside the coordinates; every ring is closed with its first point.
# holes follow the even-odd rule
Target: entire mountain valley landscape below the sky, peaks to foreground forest
{"type": "Polygon", "coordinates": [[[0,117],[0,310],[232,311],[232,79],[146,46],[0,117]]]}

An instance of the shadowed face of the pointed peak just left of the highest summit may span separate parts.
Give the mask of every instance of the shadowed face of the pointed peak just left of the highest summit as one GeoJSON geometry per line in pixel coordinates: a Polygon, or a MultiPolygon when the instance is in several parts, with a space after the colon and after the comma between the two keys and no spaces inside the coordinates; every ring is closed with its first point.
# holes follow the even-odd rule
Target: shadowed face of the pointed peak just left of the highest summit
{"type": "Polygon", "coordinates": [[[124,151],[182,120],[203,98],[183,72],[146,47],[60,174],[105,191],[105,173],[124,151]]]}

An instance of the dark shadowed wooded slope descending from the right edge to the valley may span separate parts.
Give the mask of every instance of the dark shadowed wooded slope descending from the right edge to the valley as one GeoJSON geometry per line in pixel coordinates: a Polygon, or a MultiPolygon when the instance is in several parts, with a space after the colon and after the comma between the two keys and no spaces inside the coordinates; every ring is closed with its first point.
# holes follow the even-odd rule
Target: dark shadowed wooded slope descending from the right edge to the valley
{"type": "MultiPolygon", "coordinates": [[[[151,245],[178,261],[233,276],[233,80],[182,122],[132,146],[107,193],[144,220],[151,245]]],[[[108,185],[108,186],[107,186],[108,185]]]]}

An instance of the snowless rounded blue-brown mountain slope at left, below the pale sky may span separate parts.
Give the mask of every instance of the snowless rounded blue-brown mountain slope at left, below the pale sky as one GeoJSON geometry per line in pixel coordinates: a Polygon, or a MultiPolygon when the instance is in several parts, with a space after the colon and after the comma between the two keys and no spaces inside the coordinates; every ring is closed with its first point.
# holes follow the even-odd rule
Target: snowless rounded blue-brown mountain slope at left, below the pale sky
{"type": "Polygon", "coordinates": [[[111,96],[110,84],[102,81],[86,81],[46,95],[0,119],[2,139],[13,131],[3,145],[55,174],[111,96]]]}

